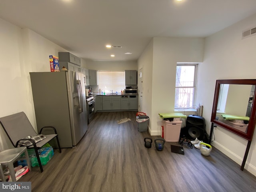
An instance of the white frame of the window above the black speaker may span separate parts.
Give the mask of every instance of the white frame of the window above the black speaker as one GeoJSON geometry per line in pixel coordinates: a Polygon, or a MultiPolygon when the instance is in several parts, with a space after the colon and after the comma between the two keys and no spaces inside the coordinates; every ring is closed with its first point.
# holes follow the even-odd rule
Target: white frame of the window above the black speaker
{"type": "Polygon", "coordinates": [[[194,68],[194,83],[193,83],[193,86],[176,86],[176,78],[175,78],[175,90],[174,91],[176,91],[176,88],[194,88],[194,94],[193,94],[193,99],[192,99],[192,106],[190,106],[190,107],[175,107],[176,98],[174,98],[174,109],[175,110],[185,110],[185,109],[195,109],[196,108],[195,102],[196,102],[196,92],[197,92],[198,64],[199,63],[177,63],[176,66],[195,66],[195,68],[194,68]]]}

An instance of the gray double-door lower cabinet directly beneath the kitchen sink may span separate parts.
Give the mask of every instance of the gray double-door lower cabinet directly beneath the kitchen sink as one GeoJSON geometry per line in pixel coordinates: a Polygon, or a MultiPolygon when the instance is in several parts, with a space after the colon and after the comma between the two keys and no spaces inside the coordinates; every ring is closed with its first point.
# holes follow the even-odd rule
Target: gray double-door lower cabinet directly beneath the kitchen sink
{"type": "Polygon", "coordinates": [[[120,110],[121,98],[120,96],[102,96],[103,110],[120,110]]]}

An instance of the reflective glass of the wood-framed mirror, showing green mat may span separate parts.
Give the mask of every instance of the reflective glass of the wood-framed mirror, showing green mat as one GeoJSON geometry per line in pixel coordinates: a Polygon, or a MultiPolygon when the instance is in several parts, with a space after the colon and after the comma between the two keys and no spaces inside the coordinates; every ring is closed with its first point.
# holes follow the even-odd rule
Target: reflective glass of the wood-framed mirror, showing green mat
{"type": "Polygon", "coordinates": [[[220,84],[215,119],[247,133],[254,92],[255,85],[220,84]]]}

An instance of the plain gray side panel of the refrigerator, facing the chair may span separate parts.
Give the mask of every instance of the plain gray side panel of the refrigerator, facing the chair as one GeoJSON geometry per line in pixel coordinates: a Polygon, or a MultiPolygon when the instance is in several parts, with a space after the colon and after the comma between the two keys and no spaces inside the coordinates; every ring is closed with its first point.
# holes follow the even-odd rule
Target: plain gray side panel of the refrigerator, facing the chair
{"type": "MultiPolygon", "coordinates": [[[[72,94],[67,91],[66,76],[67,72],[30,72],[38,133],[44,126],[54,126],[61,148],[73,146],[69,104],[72,94]]],[[[43,134],[53,132],[44,130],[43,134]]],[[[50,145],[56,148],[56,140],[50,145]]]]}

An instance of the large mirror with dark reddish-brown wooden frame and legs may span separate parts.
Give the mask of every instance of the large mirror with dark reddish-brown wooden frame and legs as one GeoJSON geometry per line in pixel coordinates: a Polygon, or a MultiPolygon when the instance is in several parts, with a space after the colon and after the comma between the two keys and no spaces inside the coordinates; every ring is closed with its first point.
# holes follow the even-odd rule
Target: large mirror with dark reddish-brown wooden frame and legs
{"type": "Polygon", "coordinates": [[[256,79],[216,80],[212,106],[214,124],[248,140],[241,170],[244,169],[256,124],[256,79]]]}

